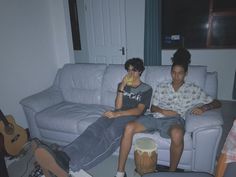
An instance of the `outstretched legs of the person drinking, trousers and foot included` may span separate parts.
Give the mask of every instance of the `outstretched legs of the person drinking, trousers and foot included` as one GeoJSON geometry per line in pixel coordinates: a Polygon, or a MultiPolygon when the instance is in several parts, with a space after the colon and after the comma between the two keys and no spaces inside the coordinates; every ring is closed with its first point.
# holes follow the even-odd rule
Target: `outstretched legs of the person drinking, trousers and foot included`
{"type": "Polygon", "coordinates": [[[52,150],[45,145],[39,145],[36,149],[36,160],[42,168],[47,169],[58,177],[68,176],[67,166],[70,166],[72,171],[79,171],[80,169],[88,170],[106,159],[119,147],[120,137],[125,125],[127,122],[135,119],[135,116],[120,117],[117,119],[103,118],[97,121],[98,123],[96,125],[103,125],[100,126],[99,133],[97,134],[96,132],[98,130],[95,131],[96,128],[94,125],[88,127],[73,143],[63,148],[63,152],[71,160],[70,164],[64,163],[65,158],[62,156],[62,152],[52,150]],[[107,127],[104,127],[104,121],[108,122],[107,127]],[[101,122],[103,123],[101,124],[101,122]],[[81,141],[82,139],[84,141],[81,141]],[[88,140],[90,145],[88,144],[88,140]],[[83,147],[84,144],[86,144],[87,149],[83,147]],[[85,149],[85,151],[81,153],[80,147],[81,150],[85,149]]]}

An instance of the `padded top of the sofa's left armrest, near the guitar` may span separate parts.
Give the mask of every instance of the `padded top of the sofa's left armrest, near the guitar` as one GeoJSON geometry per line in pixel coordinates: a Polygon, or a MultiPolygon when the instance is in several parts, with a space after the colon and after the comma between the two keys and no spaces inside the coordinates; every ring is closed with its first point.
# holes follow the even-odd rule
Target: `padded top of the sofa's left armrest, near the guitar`
{"type": "Polygon", "coordinates": [[[63,101],[61,91],[56,87],[50,87],[42,92],[28,96],[20,101],[24,107],[28,107],[35,112],[40,112],[47,107],[63,101]]]}

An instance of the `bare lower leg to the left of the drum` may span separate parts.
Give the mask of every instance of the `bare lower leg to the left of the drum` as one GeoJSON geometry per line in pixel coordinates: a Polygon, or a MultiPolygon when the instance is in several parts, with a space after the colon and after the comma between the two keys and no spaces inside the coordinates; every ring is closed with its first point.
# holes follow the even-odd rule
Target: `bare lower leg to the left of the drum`
{"type": "Polygon", "coordinates": [[[138,122],[130,122],[126,125],[124,134],[121,138],[118,169],[119,172],[125,171],[125,164],[128,158],[132,140],[135,133],[143,132],[145,127],[138,122]]]}

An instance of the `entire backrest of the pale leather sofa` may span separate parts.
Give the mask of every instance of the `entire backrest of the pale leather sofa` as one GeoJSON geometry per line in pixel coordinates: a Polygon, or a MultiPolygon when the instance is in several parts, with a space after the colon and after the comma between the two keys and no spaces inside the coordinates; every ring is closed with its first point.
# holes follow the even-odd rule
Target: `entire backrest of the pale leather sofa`
{"type": "MultiPolygon", "coordinates": [[[[141,79],[152,86],[171,80],[171,66],[147,66],[141,79]]],[[[121,64],[66,64],[58,71],[54,85],[66,101],[115,106],[118,83],[126,74],[121,64]]],[[[189,66],[187,82],[194,82],[209,95],[217,96],[217,73],[206,66],[189,66]]]]}

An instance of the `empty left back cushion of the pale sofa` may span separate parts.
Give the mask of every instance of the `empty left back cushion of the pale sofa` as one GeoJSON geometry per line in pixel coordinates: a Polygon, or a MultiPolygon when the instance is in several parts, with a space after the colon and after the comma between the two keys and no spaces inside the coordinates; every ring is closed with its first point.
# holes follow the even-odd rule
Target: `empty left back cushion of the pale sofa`
{"type": "Polygon", "coordinates": [[[105,64],[67,64],[60,77],[65,101],[100,104],[105,64]]]}

